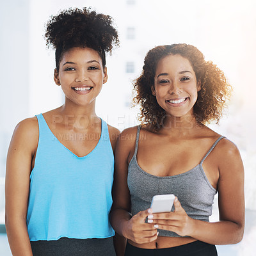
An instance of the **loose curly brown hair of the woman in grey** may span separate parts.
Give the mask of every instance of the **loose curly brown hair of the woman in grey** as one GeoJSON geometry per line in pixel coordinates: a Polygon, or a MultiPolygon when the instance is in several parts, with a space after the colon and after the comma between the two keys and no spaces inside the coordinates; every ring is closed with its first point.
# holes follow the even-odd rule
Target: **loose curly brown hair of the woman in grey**
{"type": "Polygon", "coordinates": [[[137,95],[133,102],[141,106],[139,120],[143,127],[157,131],[163,125],[166,113],[157,103],[151,89],[154,87],[154,77],[159,61],[168,55],[175,54],[189,61],[195,72],[196,81],[201,81],[201,90],[193,107],[196,122],[205,124],[215,120],[218,124],[225,102],[232,91],[224,73],[212,61],[205,61],[204,55],[195,46],[172,44],[160,45],[148,51],[143,72],[134,81],[134,91],[137,95]]]}

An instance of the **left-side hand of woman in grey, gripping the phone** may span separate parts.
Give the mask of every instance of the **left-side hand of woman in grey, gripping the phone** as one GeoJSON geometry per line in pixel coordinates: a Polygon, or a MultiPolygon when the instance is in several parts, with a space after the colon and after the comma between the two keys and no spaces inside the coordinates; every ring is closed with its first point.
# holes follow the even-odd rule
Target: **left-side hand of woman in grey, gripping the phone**
{"type": "Polygon", "coordinates": [[[147,216],[151,214],[152,210],[147,209],[132,216],[132,218],[127,221],[127,224],[125,225],[125,237],[137,244],[155,241],[158,236],[157,228],[154,227],[154,224],[145,223],[147,216]]]}

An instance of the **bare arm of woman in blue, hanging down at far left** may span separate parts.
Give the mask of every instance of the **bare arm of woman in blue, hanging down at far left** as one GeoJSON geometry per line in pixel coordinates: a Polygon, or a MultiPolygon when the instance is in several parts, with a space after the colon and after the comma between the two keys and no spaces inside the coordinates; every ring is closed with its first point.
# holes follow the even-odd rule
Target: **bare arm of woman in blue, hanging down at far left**
{"type": "Polygon", "coordinates": [[[26,225],[31,161],[38,143],[36,118],[17,125],[6,162],[6,232],[13,255],[32,255],[26,225]]]}

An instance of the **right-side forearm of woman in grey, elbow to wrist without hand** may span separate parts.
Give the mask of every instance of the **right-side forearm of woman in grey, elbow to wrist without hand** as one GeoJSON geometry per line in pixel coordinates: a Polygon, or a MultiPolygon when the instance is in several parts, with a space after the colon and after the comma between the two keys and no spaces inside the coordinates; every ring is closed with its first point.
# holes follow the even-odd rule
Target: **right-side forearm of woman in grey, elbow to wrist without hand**
{"type": "Polygon", "coordinates": [[[191,219],[191,234],[209,244],[236,244],[243,238],[243,225],[232,221],[206,222],[191,219]]]}

